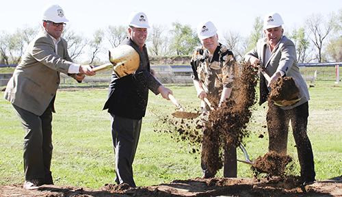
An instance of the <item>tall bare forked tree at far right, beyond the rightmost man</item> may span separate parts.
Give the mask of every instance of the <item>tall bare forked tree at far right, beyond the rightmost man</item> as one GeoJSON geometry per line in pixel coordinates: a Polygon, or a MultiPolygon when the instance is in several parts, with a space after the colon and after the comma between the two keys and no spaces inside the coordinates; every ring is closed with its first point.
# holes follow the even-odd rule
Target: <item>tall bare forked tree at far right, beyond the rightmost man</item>
{"type": "Polygon", "coordinates": [[[311,32],[310,39],[317,48],[317,61],[321,62],[324,39],[333,28],[332,18],[328,19],[327,22],[321,14],[312,14],[308,19],[306,19],[306,25],[308,30],[311,32]]]}

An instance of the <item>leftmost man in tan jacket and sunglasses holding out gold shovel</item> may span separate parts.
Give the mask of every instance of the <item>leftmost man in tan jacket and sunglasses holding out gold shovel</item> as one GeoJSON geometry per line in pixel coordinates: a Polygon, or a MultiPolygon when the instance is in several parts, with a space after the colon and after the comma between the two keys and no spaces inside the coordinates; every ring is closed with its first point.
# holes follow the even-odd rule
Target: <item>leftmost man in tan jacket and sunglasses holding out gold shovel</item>
{"type": "Polygon", "coordinates": [[[60,85],[60,73],[82,81],[84,75],[94,75],[91,66],[72,62],[66,40],[61,38],[68,20],[59,5],[44,12],[43,29],[29,43],[20,64],[8,81],[4,97],[16,110],[25,130],[25,189],[53,184],[50,166],[52,157],[51,122],[53,103],[60,85]]]}

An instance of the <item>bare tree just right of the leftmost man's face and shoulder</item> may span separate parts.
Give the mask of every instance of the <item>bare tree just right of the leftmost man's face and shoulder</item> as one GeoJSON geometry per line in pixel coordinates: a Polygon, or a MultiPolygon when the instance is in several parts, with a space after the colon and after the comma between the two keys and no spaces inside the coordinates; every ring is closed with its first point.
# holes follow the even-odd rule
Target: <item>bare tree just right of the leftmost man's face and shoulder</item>
{"type": "Polygon", "coordinates": [[[68,42],[68,53],[72,60],[83,53],[83,49],[88,43],[87,38],[77,35],[75,31],[70,29],[64,29],[63,38],[68,42]]]}

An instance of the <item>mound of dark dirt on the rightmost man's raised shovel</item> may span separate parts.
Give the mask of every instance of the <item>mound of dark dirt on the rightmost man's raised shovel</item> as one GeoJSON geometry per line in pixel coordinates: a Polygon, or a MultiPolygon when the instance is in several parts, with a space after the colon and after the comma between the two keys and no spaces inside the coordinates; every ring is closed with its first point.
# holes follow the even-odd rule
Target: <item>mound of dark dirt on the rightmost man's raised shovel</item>
{"type": "Polygon", "coordinates": [[[295,85],[293,77],[279,77],[271,85],[269,99],[272,101],[291,101],[298,99],[299,88],[295,85]]]}

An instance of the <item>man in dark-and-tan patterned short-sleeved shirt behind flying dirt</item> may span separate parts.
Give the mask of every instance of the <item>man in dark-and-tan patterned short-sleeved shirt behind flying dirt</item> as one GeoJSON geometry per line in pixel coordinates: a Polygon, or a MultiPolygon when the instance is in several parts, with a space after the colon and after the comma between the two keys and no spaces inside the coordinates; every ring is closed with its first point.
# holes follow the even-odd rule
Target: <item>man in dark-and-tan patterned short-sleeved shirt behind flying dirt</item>
{"type": "MultiPolygon", "coordinates": [[[[201,108],[205,122],[211,110],[205,99],[208,99],[212,106],[220,107],[231,96],[235,59],[233,53],[218,42],[217,29],[211,21],[200,23],[197,31],[202,46],[194,51],[190,64],[192,65],[192,79],[194,80],[197,96],[202,100],[201,108]]],[[[210,168],[208,168],[213,161],[205,161],[207,157],[203,155],[210,154],[213,156],[212,158],[218,158],[220,148],[220,146],[216,146],[219,144],[218,141],[218,134],[206,131],[204,127],[201,157],[203,178],[207,179],[215,176],[215,172],[210,172],[210,168]]],[[[237,176],[236,158],[236,147],[233,144],[225,144],[224,177],[237,176]]]]}

